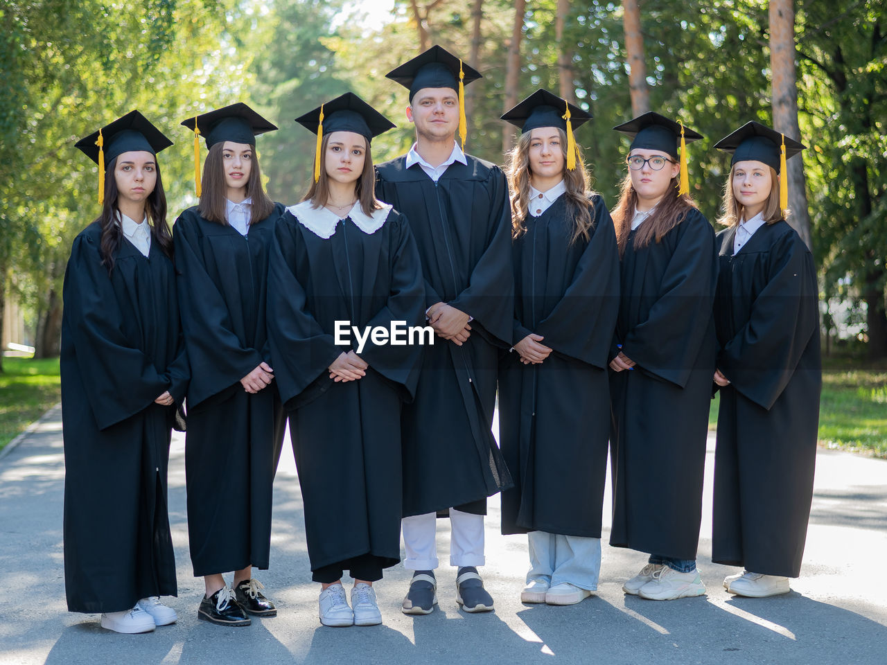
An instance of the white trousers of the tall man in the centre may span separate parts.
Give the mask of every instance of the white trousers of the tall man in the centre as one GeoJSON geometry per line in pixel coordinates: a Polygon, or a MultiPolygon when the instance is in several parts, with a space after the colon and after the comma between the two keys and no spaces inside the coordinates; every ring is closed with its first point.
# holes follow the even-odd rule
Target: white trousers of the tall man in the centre
{"type": "MultiPolygon", "coordinates": [[[[437,561],[437,513],[413,515],[401,520],[404,534],[404,568],[435,570],[437,561]]],[[[450,565],[483,566],[483,515],[450,509],[450,565]]]]}

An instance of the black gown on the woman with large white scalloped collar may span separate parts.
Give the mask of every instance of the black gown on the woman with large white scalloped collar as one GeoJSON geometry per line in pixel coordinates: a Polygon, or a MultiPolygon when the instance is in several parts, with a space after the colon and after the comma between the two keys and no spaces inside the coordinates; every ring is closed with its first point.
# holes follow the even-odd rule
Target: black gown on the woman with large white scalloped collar
{"type": "Polygon", "coordinates": [[[335,382],[327,368],[343,351],[357,352],[353,334],[352,344],[335,345],[336,321],[361,330],[392,321],[425,324],[419,254],[396,210],[377,211],[373,219],[384,223],[373,232],[327,210],[294,212],[303,220],[326,216],[322,235],[330,234],[324,238],[287,213],[278,223],[269,284],[272,366],[290,417],[311,569],[363,554],[394,566],[400,414],[415,392],[421,347],[367,340],[359,355],[369,369],[356,381],[335,382]]]}

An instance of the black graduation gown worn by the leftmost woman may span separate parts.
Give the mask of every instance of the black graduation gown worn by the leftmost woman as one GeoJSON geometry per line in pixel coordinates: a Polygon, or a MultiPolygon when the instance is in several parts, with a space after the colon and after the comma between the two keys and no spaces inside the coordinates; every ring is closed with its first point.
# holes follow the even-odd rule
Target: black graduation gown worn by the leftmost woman
{"type": "Polygon", "coordinates": [[[188,362],[173,264],[122,239],[114,271],[101,227],[75,238],[65,270],[61,395],[65,440],[65,591],[71,612],[119,612],[175,596],[167,465],[188,362]]]}

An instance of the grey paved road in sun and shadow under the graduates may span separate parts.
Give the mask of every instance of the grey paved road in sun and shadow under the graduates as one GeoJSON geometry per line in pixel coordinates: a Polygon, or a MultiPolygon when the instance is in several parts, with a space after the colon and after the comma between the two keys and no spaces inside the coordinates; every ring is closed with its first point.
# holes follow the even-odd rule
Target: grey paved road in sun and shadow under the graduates
{"type": "MultiPolygon", "coordinates": [[[[712,442],[710,442],[711,444],[712,442]]],[[[710,445],[711,448],[711,445],[710,445]]],[[[706,469],[711,479],[711,462],[706,469]]],[[[487,518],[489,565],[482,569],[497,611],[459,612],[454,572],[443,568],[440,611],[399,611],[408,575],[393,568],[378,583],[385,624],[331,629],[317,619],[292,454],[275,487],[269,571],[258,576],[279,616],[244,629],[199,622],[202,583],[188,559],[184,448],[173,443],[169,505],[178,562],[180,621],[145,635],[69,614],[62,578],[64,482],[60,410],[0,459],[0,663],[887,663],[887,462],[822,450],[803,576],[773,599],[735,599],[721,588],[732,569],[710,560],[703,520],[699,563],[709,594],[654,602],[626,597],[638,552],[604,546],[600,591],[578,606],[524,606],[526,540],[498,534],[498,500],[487,518]]],[[[706,486],[710,515],[710,482],[706,486]]],[[[609,499],[608,499],[609,501],[609,499]]],[[[101,506],[96,506],[101,510],[101,506]]],[[[232,525],[235,528],[236,525],[232,525]]],[[[608,524],[605,523],[608,538],[608,524]]],[[[449,534],[439,532],[446,560],[449,534]]]]}

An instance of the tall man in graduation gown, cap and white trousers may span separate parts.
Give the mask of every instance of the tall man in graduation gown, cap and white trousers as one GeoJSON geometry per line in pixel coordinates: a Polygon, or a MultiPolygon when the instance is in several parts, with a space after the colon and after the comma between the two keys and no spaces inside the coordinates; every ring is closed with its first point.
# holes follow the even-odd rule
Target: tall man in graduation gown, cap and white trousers
{"type": "Polygon", "coordinates": [[[499,348],[510,347],[514,278],[506,179],[467,155],[464,83],[481,77],[440,46],[388,77],[410,90],[416,143],[377,168],[376,194],[402,212],[419,246],[426,316],[438,335],[426,350],[415,401],[405,407],[404,566],[413,570],[404,613],[436,603],[436,516],[449,511],[456,600],[492,609],[483,566],[486,497],[510,484],[491,432],[499,348]]]}

